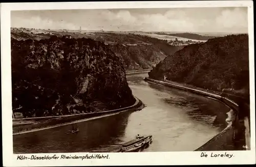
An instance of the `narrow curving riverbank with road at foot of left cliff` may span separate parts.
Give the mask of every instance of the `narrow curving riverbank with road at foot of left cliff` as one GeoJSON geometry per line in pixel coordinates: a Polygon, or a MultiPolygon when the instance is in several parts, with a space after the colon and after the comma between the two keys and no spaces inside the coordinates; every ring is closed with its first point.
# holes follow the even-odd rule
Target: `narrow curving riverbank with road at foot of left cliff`
{"type": "Polygon", "coordinates": [[[89,121],[93,119],[116,115],[123,112],[134,112],[136,110],[141,110],[144,107],[143,102],[136,97],[135,99],[135,103],[131,106],[102,112],[66,116],[13,119],[13,123],[16,122],[16,126],[13,127],[13,135],[49,129],[58,126],[65,126],[68,124],[73,124],[82,121],[89,121]],[[23,122],[28,121],[34,121],[35,124],[17,126],[17,122],[20,122],[22,124],[23,122]]]}

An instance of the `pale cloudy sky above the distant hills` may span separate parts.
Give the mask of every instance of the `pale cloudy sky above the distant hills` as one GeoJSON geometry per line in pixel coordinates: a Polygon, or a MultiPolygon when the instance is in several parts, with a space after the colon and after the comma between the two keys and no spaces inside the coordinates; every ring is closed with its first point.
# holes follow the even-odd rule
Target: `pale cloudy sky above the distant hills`
{"type": "Polygon", "coordinates": [[[248,33],[247,7],[12,11],[11,27],[248,33]]]}

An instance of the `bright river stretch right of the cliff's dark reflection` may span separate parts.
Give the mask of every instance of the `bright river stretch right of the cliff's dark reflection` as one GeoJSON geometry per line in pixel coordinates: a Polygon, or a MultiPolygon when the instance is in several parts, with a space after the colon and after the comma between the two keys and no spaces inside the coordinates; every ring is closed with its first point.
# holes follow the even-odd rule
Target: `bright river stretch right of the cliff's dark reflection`
{"type": "Polygon", "coordinates": [[[134,131],[153,134],[145,151],[193,151],[223,130],[228,108],[213,99],[143,81],[145,74],[128,76],[133,94],[147,107],[130,116],[126,140],[134,131]],[[136,118],[142,119],[138,120],[136,118]],[[144,117],[143,117],[144,116],[144,117]],[[141,125],[136,130],[135,127],[141,125]]]}

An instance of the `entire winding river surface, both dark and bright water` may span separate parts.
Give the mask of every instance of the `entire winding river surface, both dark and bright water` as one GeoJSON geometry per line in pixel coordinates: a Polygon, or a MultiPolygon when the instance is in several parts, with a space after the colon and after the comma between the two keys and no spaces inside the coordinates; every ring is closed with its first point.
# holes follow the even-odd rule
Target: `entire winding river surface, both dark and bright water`
{"type": "Polygon", "coordinates": [[[126,76],[134,96],[146,105],[142,110],[79,122],[77,134],[65,134],[72,128],[66,125],[13,135],[14,153],[115,152],[136,134],[153,135],[144,152],[194,151],[227,126],[224,104],[150,84],[146,76],[126,76]]]}

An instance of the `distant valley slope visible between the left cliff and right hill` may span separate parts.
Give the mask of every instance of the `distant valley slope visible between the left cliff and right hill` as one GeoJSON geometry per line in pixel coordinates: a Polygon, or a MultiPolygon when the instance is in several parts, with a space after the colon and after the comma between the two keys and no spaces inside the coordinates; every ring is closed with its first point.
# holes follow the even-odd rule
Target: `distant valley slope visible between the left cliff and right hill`
{"type": "Polygon", "coordinates": [[[102,38],[102,41],[112,42],[110,47],[126,70],[151,69],[167,55],[182,48],[169,45],[165,40],[143,35],[110,34],[113,38],[102,38]]]}

